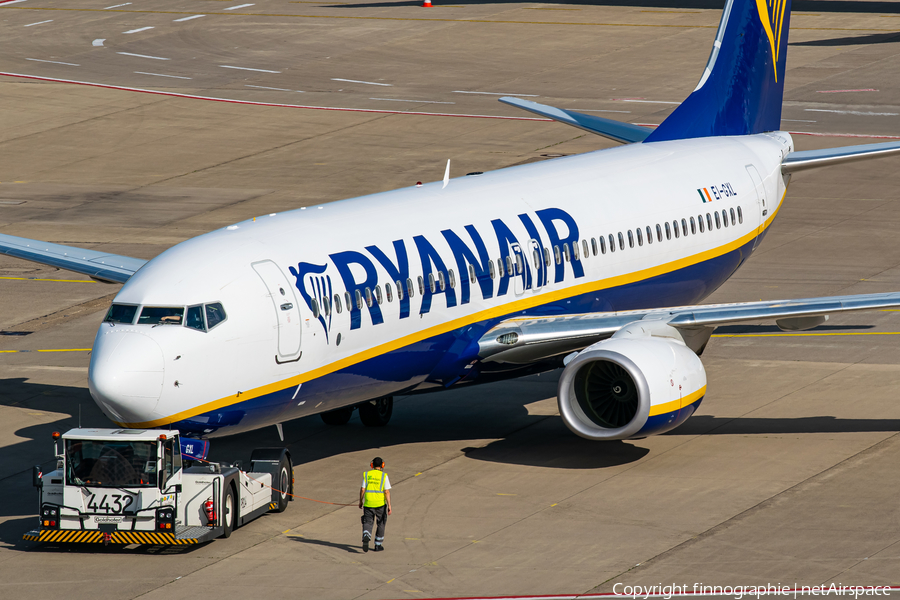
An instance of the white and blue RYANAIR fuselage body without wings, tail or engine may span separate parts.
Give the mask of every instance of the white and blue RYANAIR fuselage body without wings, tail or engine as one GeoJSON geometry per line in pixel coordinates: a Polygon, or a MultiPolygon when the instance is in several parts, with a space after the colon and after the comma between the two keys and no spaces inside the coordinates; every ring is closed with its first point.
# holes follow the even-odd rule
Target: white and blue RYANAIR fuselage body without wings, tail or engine
{"type": "Polygon", "coordinates": [[[775,216],[792,150],[780,132],[632,144],[213,231],[147,263],[114,304],[221,303],[227,319],[104,323],[92,394],[121,425],[221,435],[489,380],[473,340],[504,318],[707,297],[775,216]]]}

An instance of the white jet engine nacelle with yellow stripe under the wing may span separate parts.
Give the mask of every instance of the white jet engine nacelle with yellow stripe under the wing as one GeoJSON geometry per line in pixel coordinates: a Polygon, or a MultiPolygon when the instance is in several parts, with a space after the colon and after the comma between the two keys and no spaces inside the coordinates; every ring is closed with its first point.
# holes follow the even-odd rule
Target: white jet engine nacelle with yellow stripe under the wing
{"type": "Polygon", "coordinates": [[[563,370],[559,414],[581,437],[624,440],[664,433],[703,400],[706,371],[694,351],[681,340],[634,329],[643,335],[598,342],[563,370]]]}

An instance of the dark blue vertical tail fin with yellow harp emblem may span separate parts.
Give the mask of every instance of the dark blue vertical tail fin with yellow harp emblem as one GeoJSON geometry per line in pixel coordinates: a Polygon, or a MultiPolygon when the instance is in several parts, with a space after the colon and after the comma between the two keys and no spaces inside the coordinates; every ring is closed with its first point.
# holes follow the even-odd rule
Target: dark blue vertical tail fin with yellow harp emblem
{"type": "Polygon", "coordinates": [[[728,0],[703,77],[645,142],[781,127],[791,0],[728,0]]]}

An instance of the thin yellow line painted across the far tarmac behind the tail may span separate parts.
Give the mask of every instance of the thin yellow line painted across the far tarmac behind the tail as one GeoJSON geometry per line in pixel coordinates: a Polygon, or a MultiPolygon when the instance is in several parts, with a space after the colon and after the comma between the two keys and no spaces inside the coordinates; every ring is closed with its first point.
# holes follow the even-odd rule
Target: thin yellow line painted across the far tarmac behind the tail
{"type": "MultiPolygon", "coordinates": [[[[290,15],[279,13],[190,12],[177,10],[126,10],[102,8],[61,8],[43,6],[10,6],[6,10],[66,10],[76,12],[137,13],[161,15],[220,15],[223,17],[287,17],[292,19],[354,19],[362,21],[435,21],[445,23],[500,23],[509,25],[580,25],[594,27],[663,27],[675,29],[718,29],[719,25],[676,25],[670,23],[573,23],[566,21],[505,21],[494,19],[419,19],[414,17],[361,17],[351,15],[290,15]]],[[[792,27],[793,31],[896,31],[883,27],[792,27]]]]}

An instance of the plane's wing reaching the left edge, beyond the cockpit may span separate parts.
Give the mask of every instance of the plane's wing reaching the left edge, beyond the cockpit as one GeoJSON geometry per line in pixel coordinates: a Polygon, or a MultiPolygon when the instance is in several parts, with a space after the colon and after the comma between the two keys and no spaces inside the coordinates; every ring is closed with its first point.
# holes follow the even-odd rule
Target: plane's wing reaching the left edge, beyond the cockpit
{"type": "Polygon", "coordinates": [[[103,283],[125,283],[147,262],[130,256],[4,234],[0,234],[0,254],[83,273],[103,283]]]}

